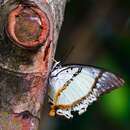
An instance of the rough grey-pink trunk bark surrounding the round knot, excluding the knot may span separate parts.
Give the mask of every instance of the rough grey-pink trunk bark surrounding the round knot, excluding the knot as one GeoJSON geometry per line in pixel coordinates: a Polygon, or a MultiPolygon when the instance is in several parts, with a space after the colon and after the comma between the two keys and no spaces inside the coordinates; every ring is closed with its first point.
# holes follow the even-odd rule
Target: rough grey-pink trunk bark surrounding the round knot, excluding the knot
{"type": "Polygon", "coordinates": [[[36,130],[47,91],[66,0],[0,1],[0,129],[36,130]],[[39,48],[21,48],[7,36],[8,15],[19,5],[36,6],[49,21],[49,34],[39,48]]]}

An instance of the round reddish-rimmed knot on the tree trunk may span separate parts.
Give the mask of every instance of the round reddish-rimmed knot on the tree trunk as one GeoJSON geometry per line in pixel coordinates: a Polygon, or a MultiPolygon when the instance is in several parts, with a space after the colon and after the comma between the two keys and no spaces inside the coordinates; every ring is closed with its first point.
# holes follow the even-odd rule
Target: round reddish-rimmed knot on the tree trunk
{"type": "Polygon", "coordinates": [[[47,39],[49,21],[37,7],[19,5],[10,12],[7,22],[7,35],[18,46],[33,48],[43,45],[47,39]]]}

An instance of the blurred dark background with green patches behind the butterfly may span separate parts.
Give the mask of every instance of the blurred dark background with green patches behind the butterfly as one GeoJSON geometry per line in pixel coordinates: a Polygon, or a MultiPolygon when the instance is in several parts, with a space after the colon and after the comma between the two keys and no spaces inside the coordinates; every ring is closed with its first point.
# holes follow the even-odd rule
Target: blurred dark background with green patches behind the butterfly
{"type": "Polygon", "coordinates": [[[70,0],[56,58],[119,73],[125,85],[102,96],[72,120],[45,117],[42,130],[130,129],[130,1],[70,0]]]}

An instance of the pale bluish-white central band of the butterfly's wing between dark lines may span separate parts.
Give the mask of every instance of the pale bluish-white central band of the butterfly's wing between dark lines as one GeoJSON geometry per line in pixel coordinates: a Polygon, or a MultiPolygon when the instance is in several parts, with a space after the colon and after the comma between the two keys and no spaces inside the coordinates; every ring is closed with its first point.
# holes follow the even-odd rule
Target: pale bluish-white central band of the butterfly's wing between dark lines
{"type": "MultiPolygon", "coordinates": [[[[80,70],[80,69],[79,69],[80,70]]],[[[72,106],[84,98],[95,84],[95,77],[89,72],[83,72],[81,69],[79,72],[74,73],[72,78],[65,84],[65,88],[62,90],[62,94],[59,95],[57,105],[72,106]]]]}

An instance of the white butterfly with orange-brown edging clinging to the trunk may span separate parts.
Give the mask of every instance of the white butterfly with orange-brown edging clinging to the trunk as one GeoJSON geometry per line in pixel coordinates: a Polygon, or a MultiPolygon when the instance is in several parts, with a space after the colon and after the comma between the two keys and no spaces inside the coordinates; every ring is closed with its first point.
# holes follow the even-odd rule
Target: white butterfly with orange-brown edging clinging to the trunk
{"type": "Polygon", "coordinates": [[[81,115],[100,95],[123,84],[121,77],[101,68],[55,63],[49,76],[49,115],[68,119],[73,118],[72,112],[81,115]]]}

